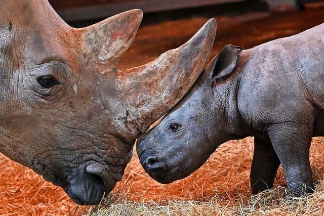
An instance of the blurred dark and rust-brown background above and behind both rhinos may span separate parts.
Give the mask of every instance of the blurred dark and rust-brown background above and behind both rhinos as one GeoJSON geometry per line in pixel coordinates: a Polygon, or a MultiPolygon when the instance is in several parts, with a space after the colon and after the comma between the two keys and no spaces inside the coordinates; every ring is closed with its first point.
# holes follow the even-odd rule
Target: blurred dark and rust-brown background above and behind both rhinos
{"type": "Polygon", "coordinates": [[[143,22],[119,68],[145,64],[181,46],[212,17],[217,20],[217,36],[210,58],[226,44],[249,49],[324,22],[324,1],[318,0],[50,0],[50,3],[73,27],[141,9],[143,22]]]}

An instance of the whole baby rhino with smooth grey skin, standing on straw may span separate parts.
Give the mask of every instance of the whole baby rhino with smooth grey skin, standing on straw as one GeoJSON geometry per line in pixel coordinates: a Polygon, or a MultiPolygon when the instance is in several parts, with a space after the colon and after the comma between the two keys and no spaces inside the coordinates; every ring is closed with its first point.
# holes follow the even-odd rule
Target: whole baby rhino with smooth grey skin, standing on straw
{"type": "Polygon", "coordinates": [[[323,35],[321,24],[250,50],[226,46],[140,137],[148,174],[164,184],[185,178],[222,143],[254,136],[253,193],[273,187],[280,163],[293,195],[311,193],[311,139],[324,136],[323,35]]]}

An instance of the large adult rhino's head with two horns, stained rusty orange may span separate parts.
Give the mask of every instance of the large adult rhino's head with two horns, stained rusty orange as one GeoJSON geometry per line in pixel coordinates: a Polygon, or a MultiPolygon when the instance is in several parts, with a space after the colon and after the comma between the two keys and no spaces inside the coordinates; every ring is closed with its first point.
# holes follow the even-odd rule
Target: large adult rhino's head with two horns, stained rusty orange
{"type": "Polygon", "coordinates": [[[0,149],[79,204],[121,179],[135,139],[190,89],[216,31],[210,20],[180,48],[117,70],[140,10],[80,29],[46,0],[2,0],[0,13],[0,149]]]}

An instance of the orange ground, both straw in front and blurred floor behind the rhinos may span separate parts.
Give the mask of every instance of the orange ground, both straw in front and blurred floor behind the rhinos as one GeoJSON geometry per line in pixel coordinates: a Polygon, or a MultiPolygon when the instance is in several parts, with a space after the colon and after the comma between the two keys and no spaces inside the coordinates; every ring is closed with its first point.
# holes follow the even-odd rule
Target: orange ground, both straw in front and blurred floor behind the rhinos
{"type": "MultiPolygon", "coordinates": [[[[293,35],[324,22],[324,6],[305,11],[216,17],[217,37],[211,58],[226,44],[245,49],[293,35]]],[[[119,68],[147,63],[189,39],[208,19],[188,18],[148,24],[119,62],[119,68]]],[[[209,214],[324,214],[324,139],[314,138],[311,164],[316,191],[302,199],[291,198],[279,168],[275,189],[252,196],[249,175],[253,138],[230,141],[190,177],[170,185],[150,179],[134,155],[123,180],[99,208],[77,206],[62,189],[3,155],[0,155],[0,215],[115,214],[115,215],[209,215],[209,214]]]]}

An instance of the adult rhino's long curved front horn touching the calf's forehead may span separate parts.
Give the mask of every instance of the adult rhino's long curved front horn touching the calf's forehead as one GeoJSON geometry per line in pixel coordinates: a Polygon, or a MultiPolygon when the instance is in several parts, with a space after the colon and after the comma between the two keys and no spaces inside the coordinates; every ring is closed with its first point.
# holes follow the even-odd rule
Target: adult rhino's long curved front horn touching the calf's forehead
{"type": "Polygon", "coordinates": [[[146,65],[117,72],[120,100],[133,119],[129,126],[144,133],[184,97],[203,71],[215,35],[216,20],[210,19],[181,47],[146,65]]]}

